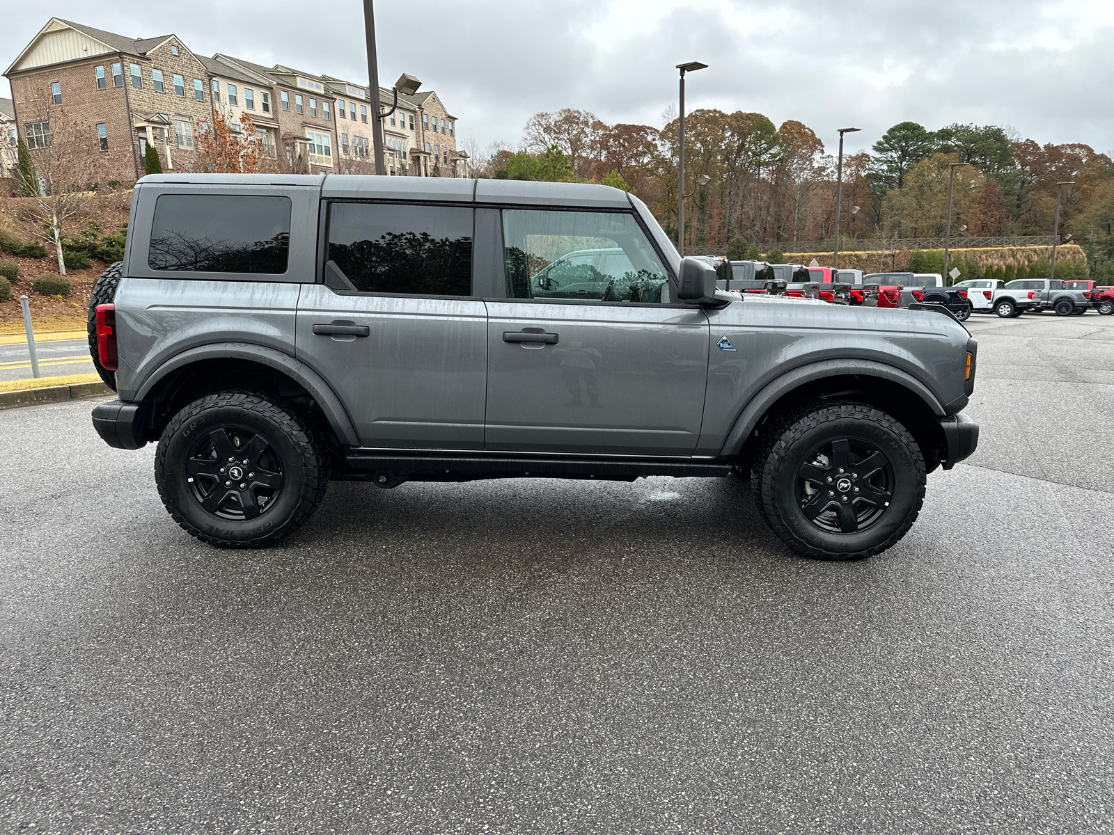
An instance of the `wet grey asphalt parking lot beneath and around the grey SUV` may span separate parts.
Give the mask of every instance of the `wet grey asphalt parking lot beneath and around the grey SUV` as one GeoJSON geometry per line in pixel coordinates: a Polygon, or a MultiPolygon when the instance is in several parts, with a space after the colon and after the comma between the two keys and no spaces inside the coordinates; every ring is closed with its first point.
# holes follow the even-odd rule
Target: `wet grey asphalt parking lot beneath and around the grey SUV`
{"type": "Polygon", "coordinates": [[[852,564],[696,479],[221,551],[88,401],[0,412],[0,831],[1114,829],[1114,317],[968,325],[979,450],[852,564]]]}

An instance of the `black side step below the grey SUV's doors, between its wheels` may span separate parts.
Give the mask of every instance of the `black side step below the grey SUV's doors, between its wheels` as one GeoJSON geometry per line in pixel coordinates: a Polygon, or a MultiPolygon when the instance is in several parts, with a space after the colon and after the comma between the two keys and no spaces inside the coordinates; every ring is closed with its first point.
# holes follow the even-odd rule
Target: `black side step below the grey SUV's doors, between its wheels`
{"type": "MultiPolygon", "coordinates": [[[[494,455],[420,455],[383,452],[348,454],[353,477],[364,472],[392,472],[417,480],[419,473],[459,473],[471,478],[555,475],[596,479],[634,479],[643,475],[725,478],[730,463],[702,463],[663,459],[502,458],[494,455]]],[[[343,477],[342,477],[343,478],[343,477]]]]}

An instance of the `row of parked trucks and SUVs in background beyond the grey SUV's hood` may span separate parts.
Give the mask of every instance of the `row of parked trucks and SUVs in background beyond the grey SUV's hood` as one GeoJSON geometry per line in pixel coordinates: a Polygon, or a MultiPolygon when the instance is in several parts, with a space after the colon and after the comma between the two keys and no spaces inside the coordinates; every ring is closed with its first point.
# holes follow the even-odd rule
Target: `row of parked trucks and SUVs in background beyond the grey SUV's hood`
{"type": "Polygon", "coordinates": [[[939,273],[863,275],[861,269],[707,259],[719,271],[720,288],[736,293],[775,293],[868,307],[935,304],[946,307],[960,322],[974,312],[993,312],[1003,318],[1043,311],[1081,316],[1092,307],[1104,316],[1114,313],[1114,287],[1096,286],[1091,281],[978,278],[949,287],[939,273]]]}

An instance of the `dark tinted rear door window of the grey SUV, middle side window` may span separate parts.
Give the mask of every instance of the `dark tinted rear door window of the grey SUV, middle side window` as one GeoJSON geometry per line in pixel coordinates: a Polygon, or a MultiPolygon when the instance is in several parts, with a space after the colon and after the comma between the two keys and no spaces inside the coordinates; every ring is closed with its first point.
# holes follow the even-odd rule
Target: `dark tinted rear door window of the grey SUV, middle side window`
{"type": "Polygon", "coordinates": [[[325,261],[361,293],[470,296],[472,209],[334,203],[325,261]]]}

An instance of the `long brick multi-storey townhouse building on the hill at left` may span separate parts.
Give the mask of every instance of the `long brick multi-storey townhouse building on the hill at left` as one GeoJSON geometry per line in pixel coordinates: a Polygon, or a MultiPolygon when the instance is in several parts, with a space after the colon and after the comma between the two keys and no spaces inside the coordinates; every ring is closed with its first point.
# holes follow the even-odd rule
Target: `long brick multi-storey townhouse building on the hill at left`
{"type": "MultiPolygon", "coordinates": [[[[281,170],[374,171],[365,87],[222,52],[196,56],[174,35],[133,39],[51,18],[4,75],[13,127],[32,155],[58,132],[59,120],[96,126],[89,150],[121,181],[143,176],[148,144],[164,170],[204,167],[197,135],[217,109],[234,129],[251,116],[256,139],[281,170]]],[[[384,111],[392,97],[380,88],[384,111]]],[[[383,129],[389,174],[468,176],[456,117],[437,94],[400,95],[383,129]]]]}

